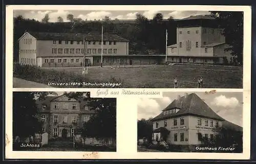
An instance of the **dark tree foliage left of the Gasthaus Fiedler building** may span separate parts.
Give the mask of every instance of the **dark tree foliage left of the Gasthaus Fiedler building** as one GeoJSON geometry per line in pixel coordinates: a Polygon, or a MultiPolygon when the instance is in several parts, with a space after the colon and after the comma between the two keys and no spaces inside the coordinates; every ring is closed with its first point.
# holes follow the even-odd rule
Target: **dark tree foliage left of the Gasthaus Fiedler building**
{"type": "Polygon", "coordinates": [[[146,138],[148,142],[152,141],[153,122],[151,119],[141,119],[137,122],[138,139],[146,138]]]}

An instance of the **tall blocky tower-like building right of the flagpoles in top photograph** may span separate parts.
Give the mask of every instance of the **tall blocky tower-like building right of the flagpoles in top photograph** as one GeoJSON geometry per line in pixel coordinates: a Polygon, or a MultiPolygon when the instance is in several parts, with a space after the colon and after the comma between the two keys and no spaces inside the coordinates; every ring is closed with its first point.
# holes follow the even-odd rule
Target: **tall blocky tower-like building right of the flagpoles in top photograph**
{"type": "Polygon", "coordinates": [[[167,46],[168,61],[173,63],[217,63],[230,61],[231,51],[225,51],[223,29],[210,16],[190,16],[177,20],[176,44],[167,46]]]}

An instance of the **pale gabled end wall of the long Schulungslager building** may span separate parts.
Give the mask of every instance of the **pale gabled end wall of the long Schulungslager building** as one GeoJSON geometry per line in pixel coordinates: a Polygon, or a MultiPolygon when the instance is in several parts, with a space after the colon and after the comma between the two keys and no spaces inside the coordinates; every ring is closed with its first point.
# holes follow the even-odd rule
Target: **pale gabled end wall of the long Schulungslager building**
{"type": "Polygon", "coordinates": [[[36,65],[36,39],[26,33],[19,40],[19,64],[36,65]]]}

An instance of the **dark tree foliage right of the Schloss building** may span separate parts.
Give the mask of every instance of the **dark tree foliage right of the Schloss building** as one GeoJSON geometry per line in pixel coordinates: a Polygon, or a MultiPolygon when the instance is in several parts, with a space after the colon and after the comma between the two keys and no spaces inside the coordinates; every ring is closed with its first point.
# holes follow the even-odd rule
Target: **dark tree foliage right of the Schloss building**
{"type": "Polygon", "coordinates": [[[82,135],[97,139],[116,139],[116,98],[91,98],[90,92],[70,92],[68,97],[89,100],[95,110],[94,117],[83,124],[82,135]]]}

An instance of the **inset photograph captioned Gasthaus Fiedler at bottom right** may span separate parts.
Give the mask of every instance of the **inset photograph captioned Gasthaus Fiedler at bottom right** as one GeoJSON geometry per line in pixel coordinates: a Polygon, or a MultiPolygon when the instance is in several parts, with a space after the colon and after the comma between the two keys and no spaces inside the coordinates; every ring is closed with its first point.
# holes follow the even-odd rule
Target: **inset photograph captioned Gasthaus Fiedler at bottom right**
{"type": "Polygon", "coordinates": [[[141,98],[137,127],[138,152],[243,153],[243,93],[141,98]]]}

